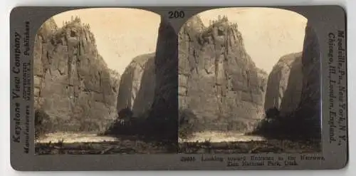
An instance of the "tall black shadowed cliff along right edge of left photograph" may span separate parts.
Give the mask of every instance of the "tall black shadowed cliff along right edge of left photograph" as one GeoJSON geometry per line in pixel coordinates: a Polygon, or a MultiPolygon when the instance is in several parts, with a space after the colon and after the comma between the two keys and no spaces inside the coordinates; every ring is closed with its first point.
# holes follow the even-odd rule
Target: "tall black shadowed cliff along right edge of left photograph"
{"type": "Polygon", "coordinates": [[[152,131],[177,143],[178,43],[177,33],[166,19],[159,24],[155,58],[155,97],[149,121],[152,131]]]}

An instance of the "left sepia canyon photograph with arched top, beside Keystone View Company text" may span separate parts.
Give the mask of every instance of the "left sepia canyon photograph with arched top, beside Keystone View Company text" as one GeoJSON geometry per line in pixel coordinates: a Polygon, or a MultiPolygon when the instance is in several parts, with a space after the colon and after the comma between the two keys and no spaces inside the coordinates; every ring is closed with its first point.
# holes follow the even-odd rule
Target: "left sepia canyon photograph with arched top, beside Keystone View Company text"
{"type": "Polygon", "coordinates": [[[177,153],[177,48],[151,11],[78,9],[44,22],[33,53],[36,155],[177,153]]]}

